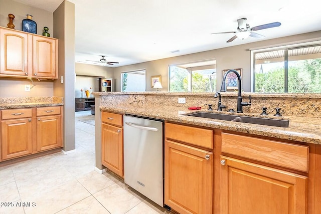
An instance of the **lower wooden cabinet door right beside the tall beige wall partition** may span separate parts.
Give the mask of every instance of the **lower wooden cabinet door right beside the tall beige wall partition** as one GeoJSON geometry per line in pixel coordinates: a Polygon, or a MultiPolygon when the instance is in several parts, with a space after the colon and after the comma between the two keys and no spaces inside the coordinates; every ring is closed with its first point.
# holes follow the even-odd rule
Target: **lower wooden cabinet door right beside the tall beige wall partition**
{"type": "Polygon", "coordinates": [[[37,117],[37,151],[61,146],[61,115],[37,117]]]}

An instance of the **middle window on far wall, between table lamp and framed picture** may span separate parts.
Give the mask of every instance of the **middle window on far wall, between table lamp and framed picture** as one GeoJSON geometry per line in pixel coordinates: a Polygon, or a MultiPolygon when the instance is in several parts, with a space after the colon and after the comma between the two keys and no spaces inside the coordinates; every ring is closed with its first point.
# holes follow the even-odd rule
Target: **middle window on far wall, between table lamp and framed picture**
{"type": "Polygon", "coordinates": [[[169,70],[171,92],[216,91],[216,60],[172,65],[169,70]]]}

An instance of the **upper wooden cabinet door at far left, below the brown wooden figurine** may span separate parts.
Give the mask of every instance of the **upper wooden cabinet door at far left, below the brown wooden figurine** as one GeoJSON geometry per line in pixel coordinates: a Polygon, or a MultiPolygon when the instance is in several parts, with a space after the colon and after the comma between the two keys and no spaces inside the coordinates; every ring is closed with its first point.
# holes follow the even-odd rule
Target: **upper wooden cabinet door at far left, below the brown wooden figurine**
{"type": "Polygon", "coordinates": [[[0,75],[28,76],[28,36],[0,29],[0,75]]]}

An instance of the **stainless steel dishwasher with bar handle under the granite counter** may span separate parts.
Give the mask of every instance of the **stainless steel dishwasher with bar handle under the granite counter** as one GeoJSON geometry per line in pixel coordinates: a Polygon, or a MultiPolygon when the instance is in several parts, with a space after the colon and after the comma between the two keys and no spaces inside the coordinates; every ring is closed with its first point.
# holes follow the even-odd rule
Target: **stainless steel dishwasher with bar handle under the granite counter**
{"type": "Polygon", "coordinates": [[[164,205],[164,121],[124,115],[124,178],[132,188],[164,205]]]}

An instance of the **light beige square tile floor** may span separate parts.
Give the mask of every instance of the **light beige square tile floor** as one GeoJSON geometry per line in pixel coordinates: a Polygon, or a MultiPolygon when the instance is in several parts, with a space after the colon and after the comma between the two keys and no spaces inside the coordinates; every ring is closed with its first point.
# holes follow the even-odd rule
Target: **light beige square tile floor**
{"type": "MultiPolygon", "coordinates": [[[[76,152],[55,153],[0,168],[0,214],[171,213],[95,165],[95,127],[77,120],[76,152]]],[[[94,116],[92,116],[94,117],[94,116]]]]}

